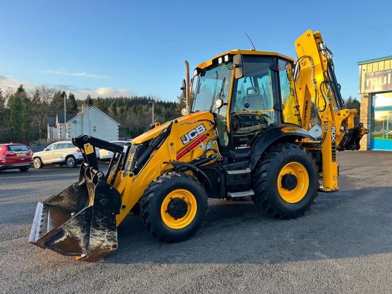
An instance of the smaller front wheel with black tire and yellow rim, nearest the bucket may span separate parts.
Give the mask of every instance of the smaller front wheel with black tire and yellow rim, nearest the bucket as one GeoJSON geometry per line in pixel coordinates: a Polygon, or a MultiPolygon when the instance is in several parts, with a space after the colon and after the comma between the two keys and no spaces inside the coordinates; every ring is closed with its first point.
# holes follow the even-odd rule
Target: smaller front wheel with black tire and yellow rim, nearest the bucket
{"type": "Polygon", "coordinates": [[[140,215],[156,239],[179,242],[196,234],[206,218],[207,206],[207,194],[200,182],[182,172],[169,172],[147,187],[140,215]]]}

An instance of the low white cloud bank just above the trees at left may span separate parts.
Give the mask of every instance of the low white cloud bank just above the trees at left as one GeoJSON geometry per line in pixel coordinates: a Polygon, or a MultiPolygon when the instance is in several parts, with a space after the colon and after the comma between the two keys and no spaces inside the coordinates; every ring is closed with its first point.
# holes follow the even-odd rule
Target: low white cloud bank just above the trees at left
{"type": "MultiPolygon", "coordinates": [[[[20,84],[23,84],[25,86],[25,89],[27,91],[34,90],[36,87],[40,86],[37,84],[31,84],[29,82],[25,81],[18,81],[10,76],[7,75],[2,75],[0,74],[0,88],[2,90],[5,90],[7,88],[11,88],[13,90],[16,90],[20,84]]],[[[66,84],[44,84],[44,86],[47,87],[55,87],[57,89],[60,89],[62,91],[66,92],[73,92],[75,97],[77,99],[85,99],[87,95],[90,95],[92,98],[97,98],[97,97],[116,97],[116,96],[132,96],[132,93],[129,90],[126,89],[116,89],[116,88],[110,88],[110,87],[99,87],[99,88],[81,88],[81,87],[76,87],[73,85],[66,85],[66,84]]]]}

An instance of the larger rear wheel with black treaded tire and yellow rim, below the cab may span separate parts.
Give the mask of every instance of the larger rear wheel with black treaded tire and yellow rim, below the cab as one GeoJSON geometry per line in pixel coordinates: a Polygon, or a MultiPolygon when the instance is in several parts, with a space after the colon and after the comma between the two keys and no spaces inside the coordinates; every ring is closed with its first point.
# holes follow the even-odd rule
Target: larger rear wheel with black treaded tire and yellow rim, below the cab
{"type": "Polygon", "coordinates": [[[318,195],[318,170],[304,147],[291,143],[270,147],[252,173],[252,200],[275,218],[303,216],[318,195]]]}

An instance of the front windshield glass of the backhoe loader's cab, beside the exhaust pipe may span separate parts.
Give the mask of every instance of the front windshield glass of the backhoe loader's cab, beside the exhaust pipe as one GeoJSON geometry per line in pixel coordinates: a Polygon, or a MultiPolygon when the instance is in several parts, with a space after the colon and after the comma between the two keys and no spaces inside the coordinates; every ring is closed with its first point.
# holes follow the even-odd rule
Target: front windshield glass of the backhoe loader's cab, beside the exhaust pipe
{"type": "Polygon", "coordinates": [[[227,103],[231,79],[231,62],[202,70],[198,76],[193,112],[209,111],[216,98],[227,103]],[[220,95],[220,97],[218,97],[220,95]]]}

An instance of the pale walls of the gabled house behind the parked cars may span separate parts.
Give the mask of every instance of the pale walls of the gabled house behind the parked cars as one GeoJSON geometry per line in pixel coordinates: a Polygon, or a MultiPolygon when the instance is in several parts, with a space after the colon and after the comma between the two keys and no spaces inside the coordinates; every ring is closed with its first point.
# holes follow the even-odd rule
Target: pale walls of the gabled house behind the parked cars
{"type": "Polygon", "coordinates": [[[70,118],[66,117],[65,124],[62,122],[64,121],[64,115],[58,114],[56,124],[49,126],[49,122],[50,124],[53,123],[52,119],[48,118],[48,141],[71,140],[80,135],[89,135],[106,141],[119,140],[120,123],[117,123],[95,106],[83,105],[82,111],[70,118]],[[64,128],[66,129],[65,133],[63,133],[64,128]]]}

